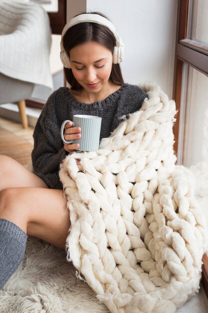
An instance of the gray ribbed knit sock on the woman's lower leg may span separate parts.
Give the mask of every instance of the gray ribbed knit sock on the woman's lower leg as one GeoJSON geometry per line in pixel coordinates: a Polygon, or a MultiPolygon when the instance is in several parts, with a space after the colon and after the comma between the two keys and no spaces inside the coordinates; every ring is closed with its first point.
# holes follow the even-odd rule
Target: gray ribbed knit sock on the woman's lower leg
{"type": "Polygon", "coordinates": [[[0,289],[21,263],[27,235],[14,223],[0,218],[0,289]]]}

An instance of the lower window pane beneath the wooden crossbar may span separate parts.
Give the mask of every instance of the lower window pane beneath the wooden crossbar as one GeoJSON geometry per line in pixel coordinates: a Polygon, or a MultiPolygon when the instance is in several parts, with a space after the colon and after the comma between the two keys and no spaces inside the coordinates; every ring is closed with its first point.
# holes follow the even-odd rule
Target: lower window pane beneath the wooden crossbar
{"type": "Polygon", "coordinates": [[[187,64],[184,76],[178,159],[179,163],[190,167],[208,157],[208,77],[187,64]]]}

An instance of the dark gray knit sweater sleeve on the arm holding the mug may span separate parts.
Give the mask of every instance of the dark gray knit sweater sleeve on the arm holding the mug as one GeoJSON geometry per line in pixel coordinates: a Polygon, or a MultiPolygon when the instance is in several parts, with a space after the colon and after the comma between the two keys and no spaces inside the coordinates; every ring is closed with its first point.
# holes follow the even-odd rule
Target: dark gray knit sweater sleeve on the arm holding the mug
{"type": "Polygon", "coordinates": [[[50,188],[62,189],[58,171],[67,152],[60,138],[60,122],[57,121],[55,104],[56,92],[53,92],[35,125],[32,165],[34,173],[50,188]]]}

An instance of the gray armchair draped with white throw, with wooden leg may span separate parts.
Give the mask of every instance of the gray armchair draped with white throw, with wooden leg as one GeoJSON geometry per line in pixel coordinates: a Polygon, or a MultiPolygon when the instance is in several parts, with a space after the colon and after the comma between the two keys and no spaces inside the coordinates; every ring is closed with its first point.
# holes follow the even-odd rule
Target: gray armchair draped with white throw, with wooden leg
{"type": "Polygon", "coordinates": [[[53,89],[47,12],[32,2],[0,1],[0,104],[16,102],[27,127],[25,99],[35,84],[53,89]]]}

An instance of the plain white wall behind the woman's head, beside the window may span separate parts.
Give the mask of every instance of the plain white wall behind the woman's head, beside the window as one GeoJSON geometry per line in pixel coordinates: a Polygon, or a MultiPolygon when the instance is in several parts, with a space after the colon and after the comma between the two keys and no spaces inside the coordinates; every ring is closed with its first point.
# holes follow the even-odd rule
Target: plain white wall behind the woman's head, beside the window
{"type": "Polygon", "coordinates": [[[100,11],[125,43],[121,63],[125,82],[155,81],[172,97],[177,19],[176,0],[67,0],[68,19],[100,11]],[[72,14],[73,13],[73,14],[72,14]]]}

